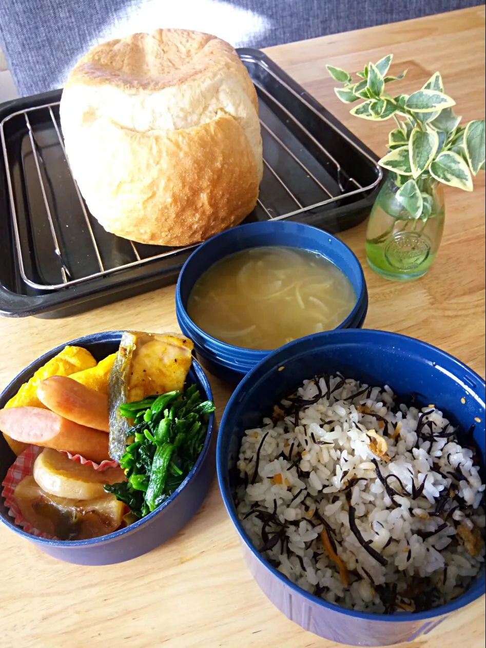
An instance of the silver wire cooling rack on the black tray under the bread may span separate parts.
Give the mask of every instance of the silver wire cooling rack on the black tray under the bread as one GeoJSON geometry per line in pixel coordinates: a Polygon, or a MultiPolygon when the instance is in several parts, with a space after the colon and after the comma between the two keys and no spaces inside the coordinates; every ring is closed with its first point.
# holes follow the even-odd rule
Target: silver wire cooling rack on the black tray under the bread
{"type": "MultiPolygon", "coordinates": [[[[375,157],[279,76],[264,55],[255,58],[246,50],[240,56],[259,95],[264,155],[260,197],[248,220],[302,220],[303,214],[325,213],[369,196],[382,179],[375,157]]],[[[16,263],[30,289],[86,284],[195,247],[145,246],[100,227],[69,170],[58,100],[8,114],[0,121],[0,140],[16,263]]]]}

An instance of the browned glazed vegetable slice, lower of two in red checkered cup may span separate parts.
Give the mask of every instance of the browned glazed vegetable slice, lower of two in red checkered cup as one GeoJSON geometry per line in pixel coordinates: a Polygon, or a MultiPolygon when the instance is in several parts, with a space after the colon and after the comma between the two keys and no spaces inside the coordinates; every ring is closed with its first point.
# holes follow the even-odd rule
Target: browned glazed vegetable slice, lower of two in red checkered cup
{"type": "Polygon", "coordinates": [[[14,498],[27,522],[60,540],[88,540],[121,525],[125,505],[114,495],[95,500],[71,500],[44,492],[32,476],[16,487],[14,498]]]}

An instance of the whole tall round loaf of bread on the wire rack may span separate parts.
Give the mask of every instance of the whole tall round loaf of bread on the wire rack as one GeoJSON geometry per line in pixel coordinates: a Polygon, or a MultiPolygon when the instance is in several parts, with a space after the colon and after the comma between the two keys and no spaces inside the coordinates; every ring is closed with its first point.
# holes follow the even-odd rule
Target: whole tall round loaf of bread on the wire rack
{"type": "Polygon", "coordinates": [[[257,94],[219,38],[159,29],[98,45],[69,75],[60,115],[80,192],[113,234],[189,245],[255,207],[257,94]]]}

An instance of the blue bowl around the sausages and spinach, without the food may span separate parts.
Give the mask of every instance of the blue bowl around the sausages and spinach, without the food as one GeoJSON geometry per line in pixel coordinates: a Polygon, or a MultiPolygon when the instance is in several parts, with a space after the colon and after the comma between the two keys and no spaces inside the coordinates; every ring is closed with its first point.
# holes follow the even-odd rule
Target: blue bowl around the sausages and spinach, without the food
{"type": "MultiPolygon", "coordinates": [[[[87,335],[84,338],[77,338],[61,344],[49,353],[45,353],[21,371],[4,389],[0,395],[0,408],[5,406],[6,402],[17,393],[19,387],[27,382],[37,369],[62,351],[66,344],[84,347],[93,354],[96,360],[102,360],[117,351],[121,336],[122,331],[87,335]]],[[[190,384],[198,386],[205,399],[213,400],[209,382],[195,360],[192,361],[187,380],[190,384]]],[[[201,454],[179,488],[155,511],[124,529],[91,540],[71,541],[38,538],[14,524],[13,518],[8,515],[3,497],[0,497],[0,519],[5,526],[15,531],[19,536],[30,540],[45,553],[65,562],[104,565],[136,558],[176,535],[202,504],[214,476],[213,428],[214,415],[211,414],[201,454]]],[[[7,470],[14,460],[14,453],[8,447],[3,435],[0,434],[0,483],[4,480],[7,470]]]]}

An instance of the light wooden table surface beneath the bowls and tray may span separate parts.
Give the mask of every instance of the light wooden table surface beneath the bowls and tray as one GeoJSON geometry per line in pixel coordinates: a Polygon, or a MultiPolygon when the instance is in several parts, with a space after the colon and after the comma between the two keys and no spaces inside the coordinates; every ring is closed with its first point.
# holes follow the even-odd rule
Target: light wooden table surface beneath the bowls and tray
{"type": "MultiPolygon", "coordinates": [[[[397,93],[411,93],[439,69],[467,121],[485,117],[485,7],[280,45],[268,54],[377,154],[389,122],[351,117],[326,73],[330,63],[362,69],[393,52],[408,67],[397,93]]],[[[485,174],[473,193],[446,192],[446,224],[434,266],[417,282],[380,279],[365,262],[365,226],[343,233],[369,290],[365,327],[415,336],[485,375],[485,174]]],[[[52,347],[102,330],[176,330],[174,286],[69,319],[0,318],[0,388],[52,347]]],[[[218,416],[229,389],[212,380],[218,416]]],[[[331,648],[285,618],[247,570],[216,482],[192,521],[152,553],[124,564],[79,567],[55,561],[0,528],[0,646],[58,648],[331,648]]],[[[413,645],[484,644],[484,599],[413,645]]]]}

